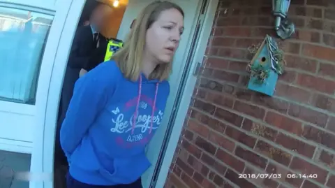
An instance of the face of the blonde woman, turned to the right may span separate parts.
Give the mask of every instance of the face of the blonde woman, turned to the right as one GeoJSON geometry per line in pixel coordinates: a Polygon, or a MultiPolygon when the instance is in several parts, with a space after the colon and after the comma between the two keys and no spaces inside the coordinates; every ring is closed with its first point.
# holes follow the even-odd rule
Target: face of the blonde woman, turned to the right
{"type": "Polygon", "coordinates": [[[156,22],[147,30],[146,54],[158,63],[172,62],[183,31],[184,17],[177,9],[162,11],[156,22]]]}

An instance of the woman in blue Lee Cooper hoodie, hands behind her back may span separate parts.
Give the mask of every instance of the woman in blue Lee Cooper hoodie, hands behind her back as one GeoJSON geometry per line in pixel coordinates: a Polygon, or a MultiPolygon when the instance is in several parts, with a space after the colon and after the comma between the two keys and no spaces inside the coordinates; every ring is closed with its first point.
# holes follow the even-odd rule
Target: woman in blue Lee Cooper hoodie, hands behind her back
{"type": "Polygon", "coordinates": [[[77,80],[61,126],[68,188],[140,188],[144,148],[161,124],[184,12],[155,1],[137,16],[124,48],[77,80]]]}

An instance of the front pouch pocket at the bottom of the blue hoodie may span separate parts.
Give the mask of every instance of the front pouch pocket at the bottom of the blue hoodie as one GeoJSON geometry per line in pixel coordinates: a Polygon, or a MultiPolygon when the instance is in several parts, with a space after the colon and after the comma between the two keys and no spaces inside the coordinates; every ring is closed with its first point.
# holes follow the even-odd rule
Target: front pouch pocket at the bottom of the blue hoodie
{"type": "Polygon", "coordinates": [[[134,157],[114,159],[114,171],[101,168],[100,173],[107,180],[117,184],[130,184],[140,178],[150,165],[145,154],[140,154],[134,157]]]}

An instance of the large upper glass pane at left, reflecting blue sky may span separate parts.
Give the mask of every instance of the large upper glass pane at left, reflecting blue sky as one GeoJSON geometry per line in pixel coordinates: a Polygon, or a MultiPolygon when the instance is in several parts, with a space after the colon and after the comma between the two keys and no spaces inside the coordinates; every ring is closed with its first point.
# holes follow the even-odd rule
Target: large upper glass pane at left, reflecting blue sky
{"type": "Polygon", "coordinates": [[[0,100],[34,104],[53,16],[0,7],[0,100]]]}

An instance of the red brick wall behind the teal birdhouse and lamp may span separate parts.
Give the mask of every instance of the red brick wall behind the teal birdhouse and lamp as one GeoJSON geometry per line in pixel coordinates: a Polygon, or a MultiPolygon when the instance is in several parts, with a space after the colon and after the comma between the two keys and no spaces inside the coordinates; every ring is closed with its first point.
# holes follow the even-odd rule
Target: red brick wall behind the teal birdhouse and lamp
{"type": "Polygon", "coordinates": [[[247,48],[274,35],[271,1],[223,0],[216,15],[165,187],[335,187],[335,0],[292,0],[297,33],[280,43],[287,70],[273,97],[247,90],[245,71],[247,48]]]}

